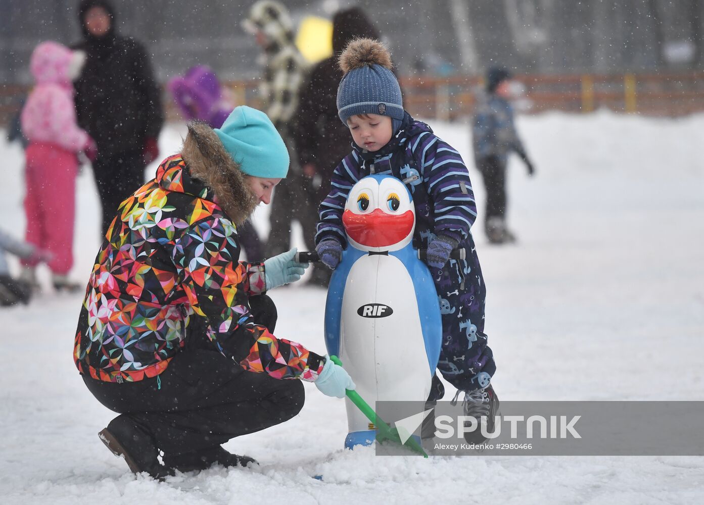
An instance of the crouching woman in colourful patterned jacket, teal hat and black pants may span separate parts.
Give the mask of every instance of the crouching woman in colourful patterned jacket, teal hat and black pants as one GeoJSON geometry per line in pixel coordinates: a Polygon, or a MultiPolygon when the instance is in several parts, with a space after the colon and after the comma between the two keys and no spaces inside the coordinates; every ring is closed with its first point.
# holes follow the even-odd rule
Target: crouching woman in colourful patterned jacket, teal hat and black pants
{"type": "Polygon", "coordinates": [[[220,129],[190,124],[181,153],[109,226],[74,358],[88,390],[120,414],[100,436],[133,472],[246,466],[221,444],[298,414],[297,379],[329,396],[354,388],[340,366],[273,335],[265,292],[301,278],[296,251],[239,262],[237,224],[270,202],[288,167],[269,118],[238,107],[220,129]]]}

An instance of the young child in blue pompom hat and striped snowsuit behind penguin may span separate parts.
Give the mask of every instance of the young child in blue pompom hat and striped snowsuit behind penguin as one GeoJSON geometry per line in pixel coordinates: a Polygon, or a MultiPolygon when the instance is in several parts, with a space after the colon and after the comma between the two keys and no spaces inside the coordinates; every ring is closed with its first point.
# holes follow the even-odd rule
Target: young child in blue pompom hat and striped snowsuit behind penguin
{"type": "MultiPolygon", "coordinates": [[[[414,246],[427,249],[443,323],[438,369],[465,392],[465,412],[490,415],[498,399],[489,384],[496,371],[484,334],[486,294],[470,226],[477,217],[467,167],[452,146],[403,110],[401,89],[391,72],[389,51],[378,41],[357,39],[340,56],[344,72],[337,90],[340,119],[352,134],[353,150],[334,170],[332,189],[320,205],[316,250],[334,269],[346,236],[342,211],[348,192],[369,174],[392,174],[408,185],[415,205],[414,246]],[[464,248],[466,260],[448,260],[464,248]]],[[[430,401],[444,389],[434,378],[430,401]]],[[[457,396],[455,395],[455,401],[457,396]]]]}

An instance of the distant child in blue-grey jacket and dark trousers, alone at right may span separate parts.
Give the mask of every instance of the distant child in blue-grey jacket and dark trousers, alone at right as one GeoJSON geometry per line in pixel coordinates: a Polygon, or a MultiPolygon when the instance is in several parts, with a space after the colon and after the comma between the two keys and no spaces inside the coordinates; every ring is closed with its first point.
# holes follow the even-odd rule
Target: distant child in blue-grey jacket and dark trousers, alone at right
{"type": "Polygon", "coordinates": [[[484,215],[486,238],[500,244],[515,242],[515,235],[506,226],[506,165],[514,151],[526,165],[528,175],[535,172],[513,121],[510,96],[511,74],[502,67],[490,68],[486,74],[486,95],[477,100],[474,114],[474,162],[482,174],[486,188],[484,215]]]}

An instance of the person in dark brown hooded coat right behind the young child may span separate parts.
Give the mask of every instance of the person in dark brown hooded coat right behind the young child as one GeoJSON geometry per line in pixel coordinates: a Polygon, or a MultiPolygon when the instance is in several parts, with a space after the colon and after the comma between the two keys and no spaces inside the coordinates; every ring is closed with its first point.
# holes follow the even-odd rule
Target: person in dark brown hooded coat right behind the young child
{"type": "MultiPolygon", "coordinates": [[[[358,37],[378,39],[379,32],[358,7],[337,12],[332,18],[333,54],[310,72],[294,114],[296,152],[303,177],[310,179],[315,208],[327,196],[334,167],[350,151],[349,129],[337,117],[337,86],[342,79],[337,58],[358,37]]],[[[329,280],[329,269],[318,268],[310,282],[327,286],[329,280]]]]}

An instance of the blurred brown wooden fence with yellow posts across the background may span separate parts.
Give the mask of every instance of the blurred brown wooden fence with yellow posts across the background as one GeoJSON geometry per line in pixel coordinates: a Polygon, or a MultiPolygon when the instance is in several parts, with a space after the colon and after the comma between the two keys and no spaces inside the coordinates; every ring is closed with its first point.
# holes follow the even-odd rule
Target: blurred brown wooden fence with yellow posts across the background
{"type": "MultiPolygon", "coordinates": [[[[704,112],[704,72],[620,75],[518,75],[530,108],[526,113],[563,110],[590,113],[607,108],[619,113],[676,117],[704,112]]],[[[225,83],[237,104],[258,106],[257,81],[225,83]]],[[[460,120],[472,114],[481,77],[403,77],[404,106],[418,117],[460,120]]],[[[27,87],[0,86],[0,125],[17,113],[27,87]]],[[[164,94],[168,119],[177,119],[164,94]]]]}

